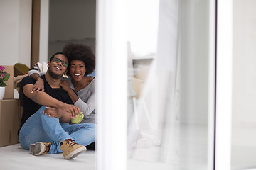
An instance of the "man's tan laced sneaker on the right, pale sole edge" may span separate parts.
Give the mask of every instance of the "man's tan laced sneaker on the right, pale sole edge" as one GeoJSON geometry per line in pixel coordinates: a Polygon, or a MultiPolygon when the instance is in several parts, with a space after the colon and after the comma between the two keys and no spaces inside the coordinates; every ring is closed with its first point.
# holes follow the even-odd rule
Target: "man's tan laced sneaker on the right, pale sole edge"
{"type": "Polygon", "coordinates": [[[77,143],[73,142],[74,140],[68,139],[63,140],[60,143],[60,149],[63,151],[64,159],[72,159],[78,154],[86,151],[86,147],[83,145],[78,145],[77,143]]]}

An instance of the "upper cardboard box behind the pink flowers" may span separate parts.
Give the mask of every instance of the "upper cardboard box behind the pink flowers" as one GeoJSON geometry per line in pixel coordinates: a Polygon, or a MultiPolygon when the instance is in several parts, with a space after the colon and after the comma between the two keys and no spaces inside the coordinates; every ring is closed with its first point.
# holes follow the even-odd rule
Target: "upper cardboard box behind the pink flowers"
{"type": "Polygon", "coordinates": [[[6,81],[6,88],[4,93],[4,99],[14,98],[14,66],[4,66],[4,71],[10,74],[10,78],[6,81]]]}

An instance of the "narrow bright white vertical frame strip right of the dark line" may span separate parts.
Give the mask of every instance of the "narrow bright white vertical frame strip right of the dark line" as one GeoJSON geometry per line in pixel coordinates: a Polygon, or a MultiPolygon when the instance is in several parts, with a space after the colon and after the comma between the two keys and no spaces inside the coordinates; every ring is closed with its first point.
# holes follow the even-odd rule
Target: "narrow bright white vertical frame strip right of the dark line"
{"type": "Polygon", "coordinates": [[[232,0],[217,1],[215,169],[231,169],[232,0]]]}

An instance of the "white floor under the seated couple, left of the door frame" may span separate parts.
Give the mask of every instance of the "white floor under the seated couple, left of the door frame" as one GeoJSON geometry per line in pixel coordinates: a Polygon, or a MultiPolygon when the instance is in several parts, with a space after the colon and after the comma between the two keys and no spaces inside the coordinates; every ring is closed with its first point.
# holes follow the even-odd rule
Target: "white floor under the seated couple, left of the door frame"
{"type": "Polygon", "coordinates": [[[96,155],[94,151],[86,151],[75,159],[65,160],[63,154],[33,156],[19,144],[0,148],[1,170],[95,169],[95,164],[96,155]]]}

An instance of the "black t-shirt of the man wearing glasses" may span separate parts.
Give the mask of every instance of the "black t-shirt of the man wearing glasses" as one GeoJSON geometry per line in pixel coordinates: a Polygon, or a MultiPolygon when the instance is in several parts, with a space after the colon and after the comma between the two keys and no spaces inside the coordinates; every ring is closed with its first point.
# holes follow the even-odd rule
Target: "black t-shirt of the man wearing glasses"
{"type": "MultiPolygon", "coordinates": [[[[58,99],[59,101],[62,101],[63,103],[67,104],[73,104],[70,97],[68,96],[68,93],[62,88],[51,88],[48,82],[46,81],[46,77],[43,75],[41,76],[44,82],[44,91],[46,94],[52,96],[53,98],[58,99]]],[[[21,89],[23,89],[23,86],[26,84],[35,84],[36,81],[32,77],[24,77],[21,81],[21,89]]],[[[23,114],[21,118],[21,127],[22,125],[28,120],[28,118],[33,115],[33,113],[36,113],[39,108],[41,108],[42,105],[39,105],[38,103],[35,103],[30,98],[26,97],[25,94],[23,94],[22,91],[22,97],[23,97],[23,114]]]]}

